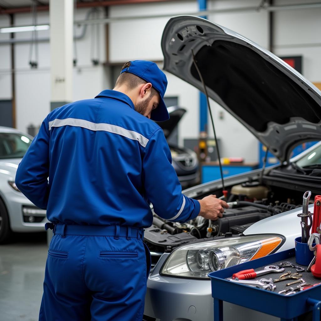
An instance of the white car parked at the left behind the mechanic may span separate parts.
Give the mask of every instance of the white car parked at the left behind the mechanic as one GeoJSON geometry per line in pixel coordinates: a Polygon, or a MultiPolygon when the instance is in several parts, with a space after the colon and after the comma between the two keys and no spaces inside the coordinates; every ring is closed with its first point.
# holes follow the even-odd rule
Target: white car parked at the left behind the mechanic
{"type": "Polygon", "coordinates": [[[12,232],[43,232],[46,210],[32,204],[16,187],[18,165],[32,137],[19,130],[0,126],[0,244],[12,232]]]}

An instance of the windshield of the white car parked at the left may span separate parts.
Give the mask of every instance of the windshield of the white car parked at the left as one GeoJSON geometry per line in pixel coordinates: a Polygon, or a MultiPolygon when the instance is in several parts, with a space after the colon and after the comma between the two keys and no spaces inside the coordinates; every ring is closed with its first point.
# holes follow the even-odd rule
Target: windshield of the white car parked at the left
{"type": "Polygon", "coordinates": [[[0,133],[0,159],[22,158],[31,138],[19,133],[0,133]]]}

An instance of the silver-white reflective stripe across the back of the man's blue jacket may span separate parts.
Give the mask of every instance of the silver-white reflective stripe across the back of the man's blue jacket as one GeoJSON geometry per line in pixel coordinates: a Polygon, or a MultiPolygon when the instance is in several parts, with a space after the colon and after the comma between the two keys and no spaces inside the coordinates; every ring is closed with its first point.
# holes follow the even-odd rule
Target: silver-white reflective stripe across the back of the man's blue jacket
{"type": "Polygon", "coordinates": [[[146,147],[148,143],[148,139],[144,137],[142,134],[134,132],[132,130],[125,129],[123,127],[100,123],[95,124],[88,120],[77,119],[77,118],[66,118],[66,119],[58,119],[49,121],[49,130],[51,127],[62,127],[62,126],[75,126],[82,127],[93,131],[104,131],[108,133],[122,135],[126,138],[133,139],[138,141],[143,147],[146,147]]]}

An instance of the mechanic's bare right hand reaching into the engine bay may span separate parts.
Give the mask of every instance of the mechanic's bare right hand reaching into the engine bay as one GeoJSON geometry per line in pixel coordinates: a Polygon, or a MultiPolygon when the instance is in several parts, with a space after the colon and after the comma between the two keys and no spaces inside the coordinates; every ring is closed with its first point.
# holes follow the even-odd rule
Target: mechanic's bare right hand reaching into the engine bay
{"type": "Polygon", "coordinates": [[[229,205],[225,201],[216,198],[216,195],[209,195],[198,201],[201,204],[201,210],[198,215],[212,221],[216,221],[223,216],[224,208],[229,208],[229,205]]]}

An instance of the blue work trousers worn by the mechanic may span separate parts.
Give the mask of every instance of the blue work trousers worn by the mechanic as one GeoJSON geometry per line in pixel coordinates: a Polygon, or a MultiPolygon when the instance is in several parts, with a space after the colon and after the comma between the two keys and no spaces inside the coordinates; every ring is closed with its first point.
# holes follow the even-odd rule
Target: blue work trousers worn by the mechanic
{"type": "Polygon", "coordinates": [[[142,238],[123,227],[116,237],[68,229],[50,242],[39,320],[141,321],[150,270],[142,238]]]}

